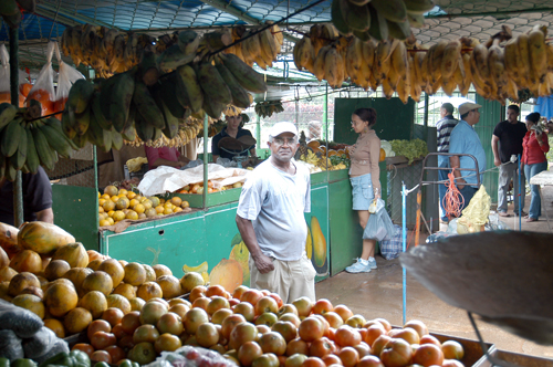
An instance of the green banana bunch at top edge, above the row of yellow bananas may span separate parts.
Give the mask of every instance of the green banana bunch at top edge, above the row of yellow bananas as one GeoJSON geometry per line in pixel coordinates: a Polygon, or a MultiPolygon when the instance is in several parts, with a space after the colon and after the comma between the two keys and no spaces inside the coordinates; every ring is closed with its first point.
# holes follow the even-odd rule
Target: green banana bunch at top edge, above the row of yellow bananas
{"type": "Polygon", "coordinates": [[[432,0],[333,0],[331,14],[342,34],[353,33],[362,41],[406,40],[434,7],[432,0]]]}

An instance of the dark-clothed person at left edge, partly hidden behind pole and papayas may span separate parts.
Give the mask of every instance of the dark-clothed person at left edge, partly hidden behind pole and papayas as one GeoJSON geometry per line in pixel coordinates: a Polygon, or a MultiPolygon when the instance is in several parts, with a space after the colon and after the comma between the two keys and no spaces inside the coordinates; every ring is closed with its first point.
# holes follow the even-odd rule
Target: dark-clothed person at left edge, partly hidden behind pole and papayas
{"type": "MultiPolygon", "coordinates": [[[[54,223],[52,210],[52,185],[46,172],[39,166],[36,174],[22,174],[23,221],[54,223]]],[[[13,184],[6,177],[0,179],[0,222],[13,226],[13,184]]]]}

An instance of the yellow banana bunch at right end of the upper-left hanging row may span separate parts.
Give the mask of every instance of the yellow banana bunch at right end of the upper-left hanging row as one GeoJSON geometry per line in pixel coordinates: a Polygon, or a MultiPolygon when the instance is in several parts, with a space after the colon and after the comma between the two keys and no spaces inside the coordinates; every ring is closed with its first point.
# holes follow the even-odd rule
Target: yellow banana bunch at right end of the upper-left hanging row
{"type": "Polygon", "coordinates": [[[272,63],[276,61],[276,55],[280,53],[284,36],[276,24],[250,36],[251,33],[254,33],[262,27],[265,25],[248,30],[244,27],[232,28],[232,42],[240,39],[244,39],[244,41],[227,49],[225,52],[236,54],[250,66],[253,66],[253,63],[257,63],[263,70],[267,70],[267,66],[272,66],[272,63]]]}

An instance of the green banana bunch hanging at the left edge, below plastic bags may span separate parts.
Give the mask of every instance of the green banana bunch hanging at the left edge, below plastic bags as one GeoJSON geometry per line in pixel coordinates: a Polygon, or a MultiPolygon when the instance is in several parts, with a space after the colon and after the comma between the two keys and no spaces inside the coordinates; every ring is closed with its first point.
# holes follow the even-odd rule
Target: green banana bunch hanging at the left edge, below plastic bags
{"type": "Polygon", "coordinates": [[[40,118],[40,102],[18,108],[0,104],[0,177],[15,179],[17,170],[36,174],[39,166],[52,170],[58,155],[70,158],[76,146],[65,137],[62,123],[54,117],[40,118]]]}

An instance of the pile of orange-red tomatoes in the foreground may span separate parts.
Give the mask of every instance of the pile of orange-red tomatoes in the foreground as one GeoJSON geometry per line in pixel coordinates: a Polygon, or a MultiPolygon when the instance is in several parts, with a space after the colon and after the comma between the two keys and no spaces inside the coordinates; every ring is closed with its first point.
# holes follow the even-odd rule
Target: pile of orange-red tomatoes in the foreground
{"type": "Polygon", "coordinates": [[[275,293],[243,285],[232,294],[199,285],[189,301],[153,298],[119,316],[94,321],[91,344],[75,348],[114,364],[129,358],[143,365],[189,345],[244,367],[463,367],[462,346],[441,344],[419,321],[393,328],[328,300],[283,304],[275,293]]]}

